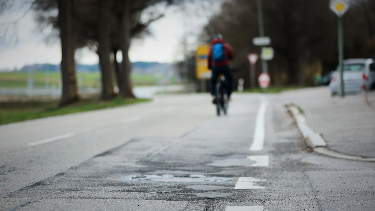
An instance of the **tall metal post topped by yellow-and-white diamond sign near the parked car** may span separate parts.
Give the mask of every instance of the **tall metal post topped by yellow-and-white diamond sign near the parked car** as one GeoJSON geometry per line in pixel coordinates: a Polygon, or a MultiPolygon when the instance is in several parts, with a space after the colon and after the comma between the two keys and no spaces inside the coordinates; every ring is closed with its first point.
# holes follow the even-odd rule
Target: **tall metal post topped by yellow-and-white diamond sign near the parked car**
{"type": "Polygon", "coordinates": [[[344,97],[344,32],[342,29],[342,16],[348,11],[349,5],[343,0],[332,0],[330,8],[339,17],[338,21],[338,45],[339,45],[339,71],[340,71],[340,95],[344,97]]]}

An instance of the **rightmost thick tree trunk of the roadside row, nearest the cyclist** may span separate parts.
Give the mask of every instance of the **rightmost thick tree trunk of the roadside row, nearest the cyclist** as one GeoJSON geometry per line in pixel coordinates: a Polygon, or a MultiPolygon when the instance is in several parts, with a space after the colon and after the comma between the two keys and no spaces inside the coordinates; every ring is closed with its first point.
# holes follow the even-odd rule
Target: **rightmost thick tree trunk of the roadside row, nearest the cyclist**
{"type": "Polygon", "coordinates": [[[119,85],[120,94],[125,98],[135,98],[132,90],[130,79],[131,65],[129,61],[129,48],[130,48],[130,29],[131,29],[131,14],[130,14],[130,0],[123,0],[122,14],[120,20],[120,47],[122,53],[122,80],[123,84],[119,85]]]}

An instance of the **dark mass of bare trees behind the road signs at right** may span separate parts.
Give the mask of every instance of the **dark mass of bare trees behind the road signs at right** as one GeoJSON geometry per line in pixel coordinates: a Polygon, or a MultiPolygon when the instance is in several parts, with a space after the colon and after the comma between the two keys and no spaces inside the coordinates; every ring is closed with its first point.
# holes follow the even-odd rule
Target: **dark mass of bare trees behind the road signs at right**
{"type": "MultiPolygon", "coordinates": [[[[332,71],[337,64],[338,18],[329,0],[263,0],[266,36],[275,58],[268,62],[274,84],[312,84],[317,72],[332,71]]],[[[375,1],[357,0],[344,16],[345,58],[375,56],[375,1]]],[[[257,1],[231,0],[204,27],[201,39],[209,42],[222,33],[234,48],[234,66],[248,78],[249,53],[260,53],[252,44],[259,36],[257,1]]],[[[259,65],[259,64],[258,64],[259,65]]],[[[260,71],[260,65],[257,67],[260,71]]]]}

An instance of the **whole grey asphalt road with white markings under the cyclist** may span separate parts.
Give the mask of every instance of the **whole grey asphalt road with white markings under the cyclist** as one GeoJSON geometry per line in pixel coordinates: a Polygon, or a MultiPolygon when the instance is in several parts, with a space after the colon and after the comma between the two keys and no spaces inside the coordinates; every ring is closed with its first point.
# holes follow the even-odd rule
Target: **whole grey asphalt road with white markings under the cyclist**
{"type": "Polygon", "coordinates": [[[0,127],[0,210],[375,210],[375,163],[308,152],[287,95],[207,95],[0,127]]]}

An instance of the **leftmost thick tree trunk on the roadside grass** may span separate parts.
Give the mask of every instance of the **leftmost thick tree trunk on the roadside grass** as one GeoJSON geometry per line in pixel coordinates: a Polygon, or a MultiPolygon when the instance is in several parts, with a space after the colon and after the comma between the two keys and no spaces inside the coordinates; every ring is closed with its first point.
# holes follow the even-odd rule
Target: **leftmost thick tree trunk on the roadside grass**
{"type": "Polygon", "coordinates": [[[62,96],[60,106],[68,105],[79,100],[77,78],[75,75],[75,30],[74,30],[74,0],[58,0],[58,24],[61,39],[61,75],[62,96]]]}

